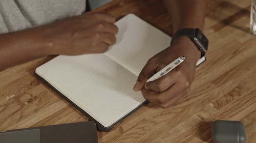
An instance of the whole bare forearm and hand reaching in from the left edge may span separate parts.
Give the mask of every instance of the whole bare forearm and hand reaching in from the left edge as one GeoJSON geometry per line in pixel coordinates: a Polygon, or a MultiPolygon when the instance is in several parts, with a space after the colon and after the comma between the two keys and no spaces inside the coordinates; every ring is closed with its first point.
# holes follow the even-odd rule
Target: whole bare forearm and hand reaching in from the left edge
{"type": "Polygon", "coordinates": [[[86,13],[27,30],[0,34],[0,71],[46,55],[100,53],[116,42],[115,17],[86,13]]]}

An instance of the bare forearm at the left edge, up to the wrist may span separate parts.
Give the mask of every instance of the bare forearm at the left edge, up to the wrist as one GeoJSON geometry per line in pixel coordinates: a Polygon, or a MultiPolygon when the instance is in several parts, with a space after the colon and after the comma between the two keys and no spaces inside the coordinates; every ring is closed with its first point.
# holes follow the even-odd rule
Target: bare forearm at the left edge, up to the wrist
{"type": "Polygon", "coordinates": [[[37,27],[0,35],[0,71],[51,54],[42,32],[37,27]]]}

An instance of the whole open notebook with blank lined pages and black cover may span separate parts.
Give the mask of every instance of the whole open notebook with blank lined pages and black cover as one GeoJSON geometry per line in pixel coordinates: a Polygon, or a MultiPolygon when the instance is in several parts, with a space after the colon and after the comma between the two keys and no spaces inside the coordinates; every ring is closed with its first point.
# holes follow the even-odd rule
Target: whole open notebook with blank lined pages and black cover
{"type": "Polygon", "coordinates": [[[35,71],[60,95],[109,131],[146,100],[133,85],[147,60],[171,38],[134,14],[116,22],[117,42],[107,52],[59,55],[35,71]]]}

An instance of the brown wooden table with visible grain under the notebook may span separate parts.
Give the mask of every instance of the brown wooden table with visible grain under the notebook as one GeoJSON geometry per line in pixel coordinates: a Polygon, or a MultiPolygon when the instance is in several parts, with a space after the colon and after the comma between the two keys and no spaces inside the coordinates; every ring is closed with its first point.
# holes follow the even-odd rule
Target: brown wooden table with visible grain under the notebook
{"type": "MultiPolygon", "coordinates": [[[[158,0],[114,1],[95,11],[118,19],[135,13],[172,35],[172,22],[158,0]]],[[[212,142],[211,122],[242,121],[247,142],[256,142],[256,36],[249,30],[250,0],[207,1],[204,33],[207,61],[196,72],[190,93],[162,109],[148,104],[99,142],[212,142]]],[[[87,121],[33,72],[53,57],[0,72],[0,131],[87,121]]]]}

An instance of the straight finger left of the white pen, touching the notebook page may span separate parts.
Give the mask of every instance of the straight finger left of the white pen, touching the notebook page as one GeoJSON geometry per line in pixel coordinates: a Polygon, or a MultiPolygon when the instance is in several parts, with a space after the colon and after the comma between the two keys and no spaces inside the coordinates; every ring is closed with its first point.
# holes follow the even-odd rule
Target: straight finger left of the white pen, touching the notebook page
{"type": "Polygon", "coordinates": [[[144,85],[148,78],[150,78],[156,71],[156,65],[151,64],[150,62],[147,62],[146,65],[141,70],[138,79],[134,85],[133,90],[135,92],[141,91],[144,88],[144,85]]]}

